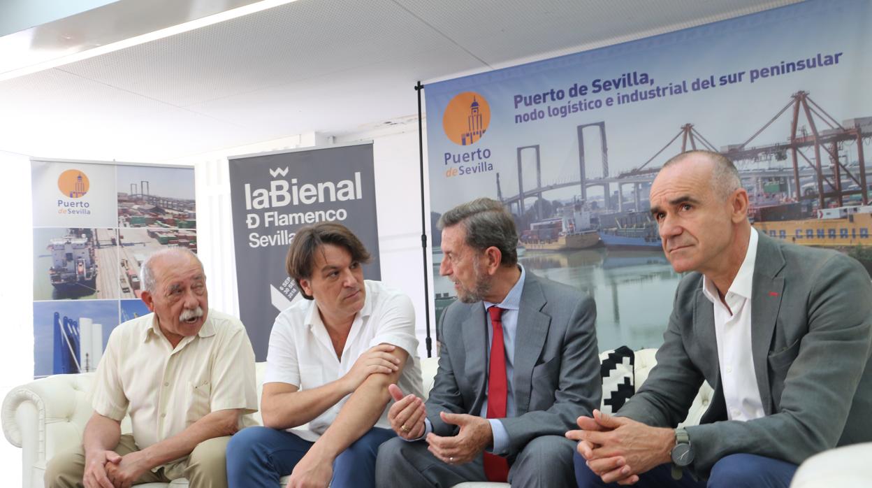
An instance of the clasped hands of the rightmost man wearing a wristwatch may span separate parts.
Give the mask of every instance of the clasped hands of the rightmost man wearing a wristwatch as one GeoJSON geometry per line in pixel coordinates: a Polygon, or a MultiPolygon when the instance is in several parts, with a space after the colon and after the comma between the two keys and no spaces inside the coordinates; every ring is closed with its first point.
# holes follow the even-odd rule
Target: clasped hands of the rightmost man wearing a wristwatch
{"type": "Polygon", "coordinates": [[[593,417],[578,417],[576,422],[581,429],[569,430],[566,436],[578,441],[578,453],[604,483],[633,485],[638,475],[671,460],[674,430],[609,416],[599,410],[594,410],[593,417]]]}

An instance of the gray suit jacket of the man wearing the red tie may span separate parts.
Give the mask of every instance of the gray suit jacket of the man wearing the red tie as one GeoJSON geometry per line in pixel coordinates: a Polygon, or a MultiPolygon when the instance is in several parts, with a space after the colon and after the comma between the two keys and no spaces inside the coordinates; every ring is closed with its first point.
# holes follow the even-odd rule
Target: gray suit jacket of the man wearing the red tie
{"type": "MultiPolygon", "coordinates": [[[[600,404],[596,306],[576,288],[527,271],[514,341],[517,416],[501,419],[514,458],[536,436],[562,436],[600,404]]],[[[454,302],[439,320],[439,371],[426,402],[433,432],[457,428],[439,412],[479,415],[487,395],[487,320],[481,302],[454,302]]]]}

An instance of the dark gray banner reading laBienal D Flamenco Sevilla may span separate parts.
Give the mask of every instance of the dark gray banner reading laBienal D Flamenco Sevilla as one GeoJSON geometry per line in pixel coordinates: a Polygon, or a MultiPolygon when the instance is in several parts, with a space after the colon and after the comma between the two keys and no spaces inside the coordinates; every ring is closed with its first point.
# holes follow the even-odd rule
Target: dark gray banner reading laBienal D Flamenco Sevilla
{"type": "Polygon", "coordinates": [[[232,158],[230,204],[240,318],[257,361],[276,315],[303,299],[285,271],[296,230],[342,223],[372,256],[364,278],[381,278],[371,142],[232,158]]]}

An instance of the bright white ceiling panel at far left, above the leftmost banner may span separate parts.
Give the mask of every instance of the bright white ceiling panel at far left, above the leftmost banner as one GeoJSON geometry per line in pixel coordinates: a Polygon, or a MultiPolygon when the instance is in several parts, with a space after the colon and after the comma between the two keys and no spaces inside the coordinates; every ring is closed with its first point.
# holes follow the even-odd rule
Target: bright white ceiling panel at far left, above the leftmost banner
{"type": "Polygon", "coordinates": [[[25,155],[154,161],[261,141],[235,123],[49,70],[0,85],[0,148],[25,155]]]}

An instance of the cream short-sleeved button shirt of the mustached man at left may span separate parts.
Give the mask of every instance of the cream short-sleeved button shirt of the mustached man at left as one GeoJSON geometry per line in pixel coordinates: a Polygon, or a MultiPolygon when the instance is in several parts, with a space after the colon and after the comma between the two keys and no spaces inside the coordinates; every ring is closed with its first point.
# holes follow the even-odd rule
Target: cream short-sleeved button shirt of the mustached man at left
{"type": "Polygon", "coordinates": [[[117,421],[129,412],[140,449],[180,433],[210,412],[257,411],[255,354],[245,326],[209,309],[200,333],[173,348],[153,313],[126,321],[109,337],[92,406],[117,421]]]}

